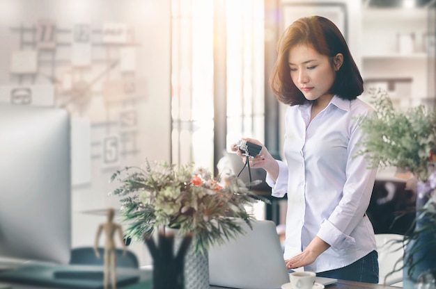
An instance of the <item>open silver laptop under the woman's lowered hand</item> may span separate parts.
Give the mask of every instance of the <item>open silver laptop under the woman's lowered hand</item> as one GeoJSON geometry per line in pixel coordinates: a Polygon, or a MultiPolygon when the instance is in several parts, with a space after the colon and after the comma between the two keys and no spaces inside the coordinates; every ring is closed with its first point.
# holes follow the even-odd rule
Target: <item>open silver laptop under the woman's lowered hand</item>
{"type": "Polygon", "coordinates": [[[244,289],[279,289],[289,282],[276,225],[252,222],[253,230],[240,221],[244,235],[209,249],[209,281],[212,286],[244,289]]]}

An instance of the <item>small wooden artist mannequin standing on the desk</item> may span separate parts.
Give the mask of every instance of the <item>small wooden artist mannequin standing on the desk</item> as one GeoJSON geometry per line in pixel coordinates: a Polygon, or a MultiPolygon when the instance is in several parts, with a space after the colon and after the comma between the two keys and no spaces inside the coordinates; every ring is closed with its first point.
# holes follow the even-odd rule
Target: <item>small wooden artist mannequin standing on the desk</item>
{"type": "Polygon", "coordinates": [[[119,224],[114,223],[115,210],[109,208],[107,210],[107,222],[98,226],[97,235],[95,236],[94,251],[95,255],[100,258],[100,252],[98,251],[98,241],[100,240],[100,234],[104,231],[106,235],[106,241],[104,242],[104,289],[109,286],[109,277],[111,277],[112,289],[116,289],[116,246],[114,235],[118,231],[121,244],[123,244],[123,254],[127,253],[127,247],[123,241],[123,229],[119,224]]]}

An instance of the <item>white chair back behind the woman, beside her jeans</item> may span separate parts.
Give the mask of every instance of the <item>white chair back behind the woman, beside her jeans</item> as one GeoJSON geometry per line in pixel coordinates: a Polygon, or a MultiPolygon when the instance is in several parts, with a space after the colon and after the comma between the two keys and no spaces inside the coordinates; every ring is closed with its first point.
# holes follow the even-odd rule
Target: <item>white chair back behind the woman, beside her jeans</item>
{"type": "Polygon", "coordinates": [[[379,284],[396,286],[403,281],[403,270],[396,271],[403,266],[403,235],[394,233],[375,234],[377,244],[379,284]],[[389,274],[389,276],[388,276],[389,274]]]}

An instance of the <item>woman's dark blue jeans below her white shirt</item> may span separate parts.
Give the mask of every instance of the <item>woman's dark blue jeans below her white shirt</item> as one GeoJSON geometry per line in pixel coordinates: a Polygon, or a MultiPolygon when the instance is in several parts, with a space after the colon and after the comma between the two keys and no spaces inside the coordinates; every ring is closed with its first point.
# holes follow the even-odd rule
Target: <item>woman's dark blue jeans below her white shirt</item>
{"type": "Polygon", "coordinates": [[[365,283],[378,283],[378,254],[372,251],[348,266],[316,273],[316,276],[329,277],[365,283]]]}

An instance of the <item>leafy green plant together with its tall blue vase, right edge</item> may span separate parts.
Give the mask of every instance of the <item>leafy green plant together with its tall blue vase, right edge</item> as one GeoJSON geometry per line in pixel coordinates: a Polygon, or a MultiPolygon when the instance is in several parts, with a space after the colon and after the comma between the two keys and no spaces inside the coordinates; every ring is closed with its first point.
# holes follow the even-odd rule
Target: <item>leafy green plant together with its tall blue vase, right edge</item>
{"type": "Polygon", "coordinates": [[[398,269],[405,288],[412,288],[423,271],[436,269],[436,108],[397,111],[387,92],[369,93],[377,117],[361,119],[365,137],[358,154],[371,167],[396,167],[415,187],[416,217],[402,240],[405,256],[398,269]]]}

